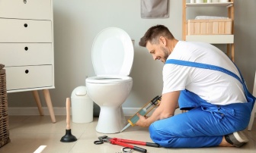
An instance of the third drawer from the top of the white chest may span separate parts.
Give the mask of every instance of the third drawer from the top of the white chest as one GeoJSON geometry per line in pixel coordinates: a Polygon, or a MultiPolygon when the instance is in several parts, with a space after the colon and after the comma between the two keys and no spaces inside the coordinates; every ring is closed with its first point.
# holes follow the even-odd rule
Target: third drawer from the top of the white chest
{"type": "Polygon", "coordinates": [[[0,43],[5,67],[53,64],[52,43],[0,43]]]}

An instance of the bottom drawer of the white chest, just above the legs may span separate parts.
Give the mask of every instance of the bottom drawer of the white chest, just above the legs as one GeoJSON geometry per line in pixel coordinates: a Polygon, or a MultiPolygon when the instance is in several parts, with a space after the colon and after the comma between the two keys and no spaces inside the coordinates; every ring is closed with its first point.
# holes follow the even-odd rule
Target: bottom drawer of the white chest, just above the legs
{"type": "Polygon", "coordinates": [[[5,67],[7,90],[53,86],[52,65],[5,67]]]}

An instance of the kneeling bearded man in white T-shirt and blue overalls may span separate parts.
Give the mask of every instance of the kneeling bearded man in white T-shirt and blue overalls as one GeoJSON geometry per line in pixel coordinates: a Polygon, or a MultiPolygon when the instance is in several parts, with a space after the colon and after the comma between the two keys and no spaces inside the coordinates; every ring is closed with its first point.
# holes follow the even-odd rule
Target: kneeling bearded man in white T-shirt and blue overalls
{"type": "Polygon", "coordinates": [[[152,140],[163,147],[241,147],[254,97],[235,64],[219,48],[185,42],[163,25],[149,28],[139,45],[163,67],[162,101],[152,116],[138,114],[138,126],[149,126],[152,140]],[[186,113],[174,116],[179,105],[186,113]]]}

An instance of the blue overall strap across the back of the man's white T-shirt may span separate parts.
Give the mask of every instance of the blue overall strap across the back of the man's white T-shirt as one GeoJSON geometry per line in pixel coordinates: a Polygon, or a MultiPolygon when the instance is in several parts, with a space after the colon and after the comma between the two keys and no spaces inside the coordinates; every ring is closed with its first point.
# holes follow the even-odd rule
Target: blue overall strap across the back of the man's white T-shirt
{"type": "Polygon", "coordinates": [[[168,59],[165,64],[178,64],[178,65],[183,65],[183,66],[187,66],[187,67],[198,67],[198,68],[204,68],[204,69],[210,69],[210,70],[219,70],[223,73],[226,73],[230,76],[235,77],[235,79],[237,79],[240,83],[242,83],[244,91],[245,91],[245,97],[247,99],[248,102],[253,102],[254,105],[254,101],[255,101],[255,97],[253,95],[251,95],[250,92],[248,92],[247,86],[245,85],[245,80],[242,77],[242,73],[240,72],[240,70],[238,69],[238,72],[241,76],[241,79],[239,76],[237,76],[235,73],[232,73],[230,70],[226,70],[225,68],[222,67],[218,67],[215,65],[211,65],[211,64],[202,64],[202,63],[197,63],[197,62],[192,62],[192,61],[181,61],[181,60],[175,60],[175,59],[168,59]]]}

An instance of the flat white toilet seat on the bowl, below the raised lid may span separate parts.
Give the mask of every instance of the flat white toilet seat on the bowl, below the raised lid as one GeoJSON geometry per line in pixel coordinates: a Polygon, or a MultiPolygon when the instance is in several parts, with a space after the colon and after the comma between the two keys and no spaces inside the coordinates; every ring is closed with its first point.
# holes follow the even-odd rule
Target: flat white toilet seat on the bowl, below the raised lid
{"type": "Polygon", "coordinates": [[[98,84],[127,83],[131,81],[133,81],[133,79],[129,76],[92,76],[86,79],[87,83],[98,84]]]}

